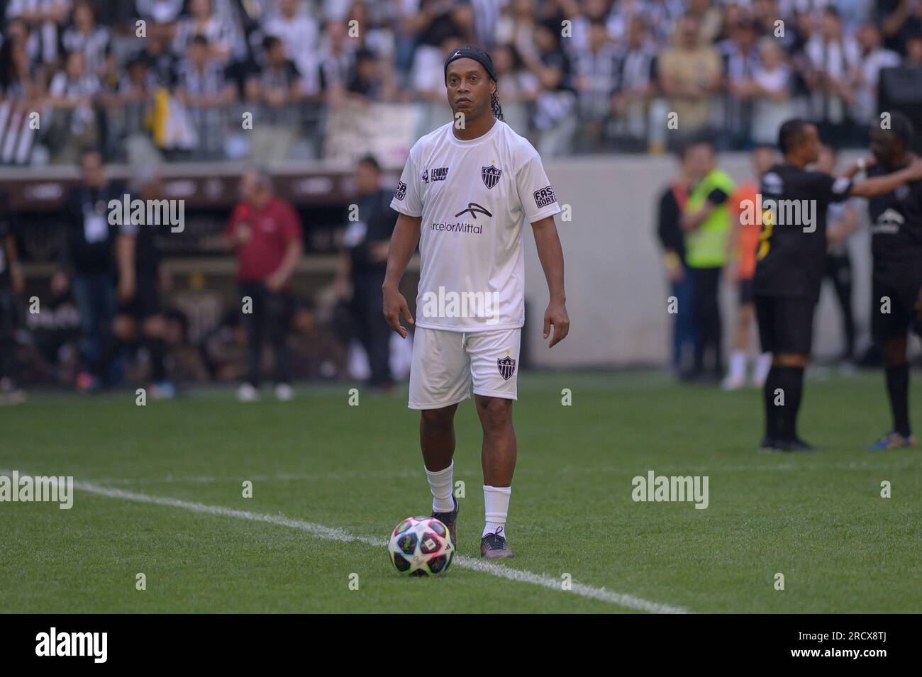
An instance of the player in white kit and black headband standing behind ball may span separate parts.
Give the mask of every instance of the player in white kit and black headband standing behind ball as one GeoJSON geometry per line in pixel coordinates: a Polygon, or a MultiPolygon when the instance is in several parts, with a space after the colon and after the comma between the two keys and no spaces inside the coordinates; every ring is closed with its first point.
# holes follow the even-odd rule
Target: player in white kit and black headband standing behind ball
{"type": "Polygon", "coordinates": [[[554,225],[561,209],[538,152],[502,122],[490,55],[473,47],[444,66],[454,120],[410,150],[391,206],[399,212],[384,277],[384,318],[402,337],[401,314],[416,325],[409,408],[420,409],[420,447],[432,516],[456,541],[452,472],[455,410],[470,397],[483,427],[481,462],[486,524],[480,554],[513,556],[505,521],[515,468],[512,405],[525,323],[525,251],[530,223],[550,291],[544,338],[570,330],[563,251],[554,225]],[[420,245],[417,319],[397,289],[420,245]]]}

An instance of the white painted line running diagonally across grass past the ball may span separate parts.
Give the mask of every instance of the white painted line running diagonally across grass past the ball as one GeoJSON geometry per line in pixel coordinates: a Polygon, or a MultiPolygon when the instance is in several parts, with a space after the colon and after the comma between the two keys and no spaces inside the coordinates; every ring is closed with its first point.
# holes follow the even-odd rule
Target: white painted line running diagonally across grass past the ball
{"type": "MultiPolygon", "coordinates": [[[[12,473],[9,471],[0,471],[0,475],[9,476],[11,474],[12,473]]],[[[342,529],[327,527],[323,524],[314,524],[313,522],[306,522],[301,519],[290,519],[281,515],[266,515],[258,512],[250,512],[249,510],[235,510],[232,508],[223,508],[221,506],[208,506],[204,503],[183,501],[179,498],[171,498],[169,496],[148,496],[147,494],[136,494],[132,491],[113,489],[107,486],[100,486],[99,484],[92,484],[90,482],[75,482],[74,487],[80,489],[81,491],[89,492],[90,494],[96,494],[97,496],[121,498],[126,501],[148,503],[156,506],[167,506],[170,508],[183,508],[184,510],[191,510],[192,512],[203,513],[207,515],[219,515],[220,517],[231,517],[236,519],[247,519],[255,522],[265,522],[267,524],[276,524],[278,526],[289,527],[290,529],[305,531],[312,534],[313,536],[323,538],[327,541],[339,541],[341,543],[365,543],[366,545],[373,545],[374,547],[380,548],[384,548],[387,544],[384,539],[371,538],[369,536],[359,536],[342,529]]],[[[644,600],[643,598],[635,597],[627,593],[613,592],[605,588],[595,588],[583,583],[572,582],[573,587],[569,590],[564,590],[561,588],[562,581],[559,578],[552,578],[544,574],[535,574],[530,571],[523,571],[521,569],[508,568],[506,566],[497,565],[482,559],[468,557],[467,555],[456,555],[453,564],[455,564],[455,566],[463,566],[467,569],[479,571],[484,574],[491,574],[492,576],[507,578],[519,583],[531,583],[532,585],[539,585],[544,588],[558,590],[560,592],[572,592],[573,594],[588,598],[590,600],[607,601],[611,604],[617,604],[618,606],[622,606],[627,609],[633,609],[635,611],[648,613],[690,613],[687,609],[679,606],[671,606],[669,604],[661,604],[656,601],[644,600]]]]}

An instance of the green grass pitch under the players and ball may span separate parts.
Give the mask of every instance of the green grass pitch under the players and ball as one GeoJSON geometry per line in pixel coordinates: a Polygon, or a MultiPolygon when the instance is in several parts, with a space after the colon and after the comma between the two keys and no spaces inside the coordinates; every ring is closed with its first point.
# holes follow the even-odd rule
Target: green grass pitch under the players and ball
{"type": "MultiPolygon", "coordinates": [[[[880,373],[809,376],[801,434],[823,451],[789,456],[756,453],[755,390],[679,386],[658,372],[526,373],[508,522],[517,556],[486,567],[476,558],[480,432],[462,403],[455,480],[466,484],[467,557],[428,579],[398,575],[384,547],[400,519],[430,508],[419,414],[406,390],[362,391],[356,407],[348,389],[247,405],[203,391],[146,407],[131,392],[39,394],[0,409],[0,470],[95,487],[77,490],[70,510],[0,503],[0,612],[922,609],[922,451],[864,450],[889,424],[880,373]],[[564,388],[572,406],[561,405],[564,388]],[[634,502],[632,477],[650,470],[707,475],[708,508],[634,502]]],[[[919,379],[912,389],[922,402],[919,379]]]]}

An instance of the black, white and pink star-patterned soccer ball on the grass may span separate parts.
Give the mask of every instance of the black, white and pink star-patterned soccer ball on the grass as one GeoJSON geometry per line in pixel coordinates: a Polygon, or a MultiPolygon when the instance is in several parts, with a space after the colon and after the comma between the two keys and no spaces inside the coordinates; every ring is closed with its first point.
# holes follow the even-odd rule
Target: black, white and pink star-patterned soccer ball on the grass
{"type": "Polygon", "coordinates": [[[445,573],[451,565],[455,543],[438,519],[408,517],[391,532],[387,554],[401,574],[437,576],[445,573]]]}

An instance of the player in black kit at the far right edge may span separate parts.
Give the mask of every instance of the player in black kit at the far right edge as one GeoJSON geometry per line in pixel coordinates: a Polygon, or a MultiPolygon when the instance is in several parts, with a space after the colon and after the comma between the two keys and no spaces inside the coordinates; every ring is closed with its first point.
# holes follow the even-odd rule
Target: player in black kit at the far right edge
{"type": "MultiPolygon", "coordinates": [[[[888,176],[913,162],[915,130],[902,113],[891,114],[890,129],[870,130],[874,165],[869,176],[888,176]]],[[[869,449],[913,447],[909,426],[909,365],[906,334],[922,336],[922,181],[901,185],[868,202],[873,283],[871,333],[881,344],[892,430],[869,449]]]]}

